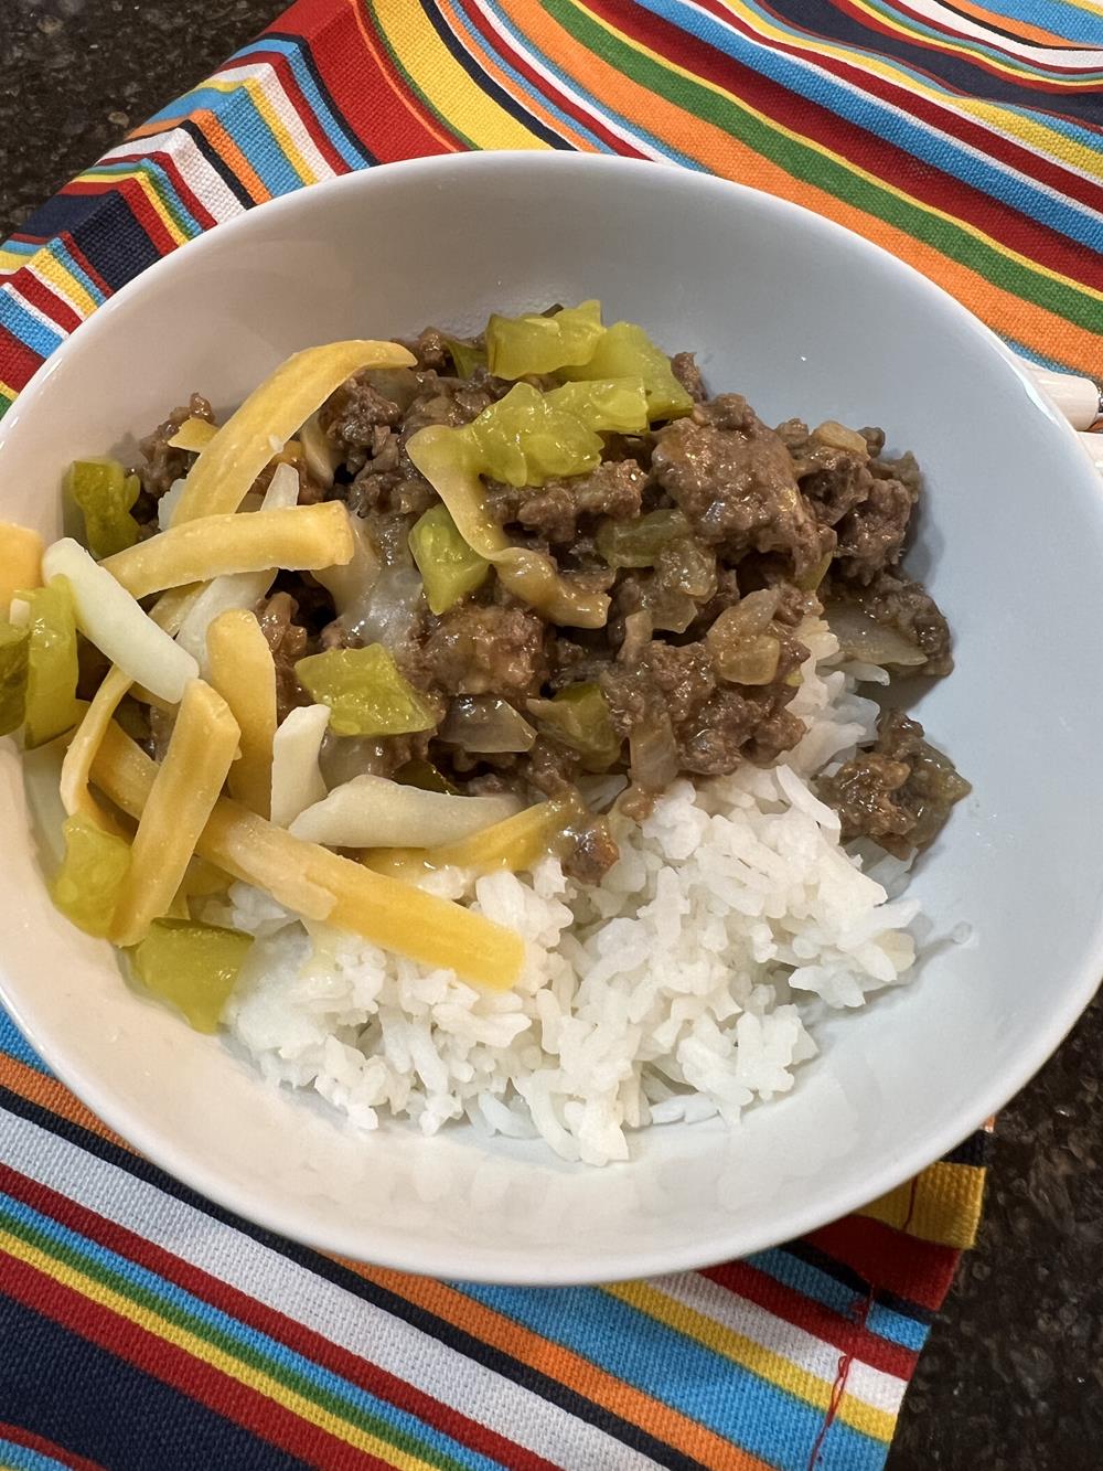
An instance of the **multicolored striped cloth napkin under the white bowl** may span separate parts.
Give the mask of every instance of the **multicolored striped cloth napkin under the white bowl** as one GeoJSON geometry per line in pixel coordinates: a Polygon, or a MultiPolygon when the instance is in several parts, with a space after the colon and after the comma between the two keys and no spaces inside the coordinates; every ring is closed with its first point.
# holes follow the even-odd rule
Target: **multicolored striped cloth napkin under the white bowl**
{"type": "MultiPolygon", "coordinates": [[[[753,184],[909,260],[1035,362],[1099,371],[1100,84],[1085,0],[299,0],[0,247],[0,412],[219,221],[503,147],[753,184]]],[[[872,1471],[972,1243],[984,1146],[703,1272],[441,1283],[197,1197],[0,1015],[0,1467],[872,1471]]]]}

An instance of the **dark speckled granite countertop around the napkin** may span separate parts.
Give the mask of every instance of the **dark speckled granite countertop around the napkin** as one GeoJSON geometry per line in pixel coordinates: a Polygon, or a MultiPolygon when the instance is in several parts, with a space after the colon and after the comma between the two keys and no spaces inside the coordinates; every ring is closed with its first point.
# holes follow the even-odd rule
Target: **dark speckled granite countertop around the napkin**
{"type": "MultiPolygon", "coordinates": [[[[278,0],[0,0],[0,238],[278,0]]],[[[1044,984],[1044,977],[1038,978],[1044,984]]],[[[1103,1467],[1103,1003],[1000,1115],[891,1471],[1103,1467]]]]}

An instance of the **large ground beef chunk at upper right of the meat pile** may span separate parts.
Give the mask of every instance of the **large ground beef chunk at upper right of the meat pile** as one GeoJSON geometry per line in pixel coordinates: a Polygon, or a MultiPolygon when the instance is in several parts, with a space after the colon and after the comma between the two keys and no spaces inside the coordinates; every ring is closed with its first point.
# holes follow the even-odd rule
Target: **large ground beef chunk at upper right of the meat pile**
{"type": "Polygon", "coordinates": [[[660,430],[652,468],[696,534],[724,555],[784,552],[797,575],[821,559],[819,527],[785,443],[740,394],[721,394],[660,430]]]}

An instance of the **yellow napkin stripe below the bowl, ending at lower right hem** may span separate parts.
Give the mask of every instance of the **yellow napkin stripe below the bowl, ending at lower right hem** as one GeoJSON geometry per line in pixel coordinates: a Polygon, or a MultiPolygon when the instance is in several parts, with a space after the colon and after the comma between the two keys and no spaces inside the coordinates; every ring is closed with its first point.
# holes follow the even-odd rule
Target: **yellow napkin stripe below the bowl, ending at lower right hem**
{"type": "MultiPolygon", "coordinates": [[[[677,1333],[696,1339],[706,1349],[712,1349],[713,1353],[731,1359],[732,1364],[740,1364],[743,1368],[750,1370],[752,1374],[757,1374],[759,1378],[768,1380],[797,1399],[803,1399],[807,1405],[815,1405],[816,1409],[827,1409],[831,1403],[834,1384],[800,1368],[791,1359],[763,1349],[753,1339],[722,1327],[713,1318],[707,1318],[694,1308],[687,1308],[684,1303],[675,1302],[647,1283],[613,1283],[604,1292],[612,1293],[612,1296],[629,1303],[640,1312],[646,1312],[649,1318],[657,1318],[659,1322],[665,1322],[677,1333]]],[[[838,1402],[837,1418],[875,1440],[887,1443],[893,1439],[896,1415],[888,1414],[885,1409],[875,1409],[854,1395],[843,1393],[838,1402]]]]}

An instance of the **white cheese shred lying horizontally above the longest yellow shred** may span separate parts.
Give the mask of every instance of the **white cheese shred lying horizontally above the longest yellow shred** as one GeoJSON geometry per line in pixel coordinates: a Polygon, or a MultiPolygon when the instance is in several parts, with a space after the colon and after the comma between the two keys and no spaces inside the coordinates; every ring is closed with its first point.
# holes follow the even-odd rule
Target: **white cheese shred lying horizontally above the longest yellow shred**
{"type": "Polygon", "coordinates": [[[519,808],[516,797],[453,797],[365,775],[300,812],[288,831],[328,847],[435,847],[459,843],[519,808]]]}

